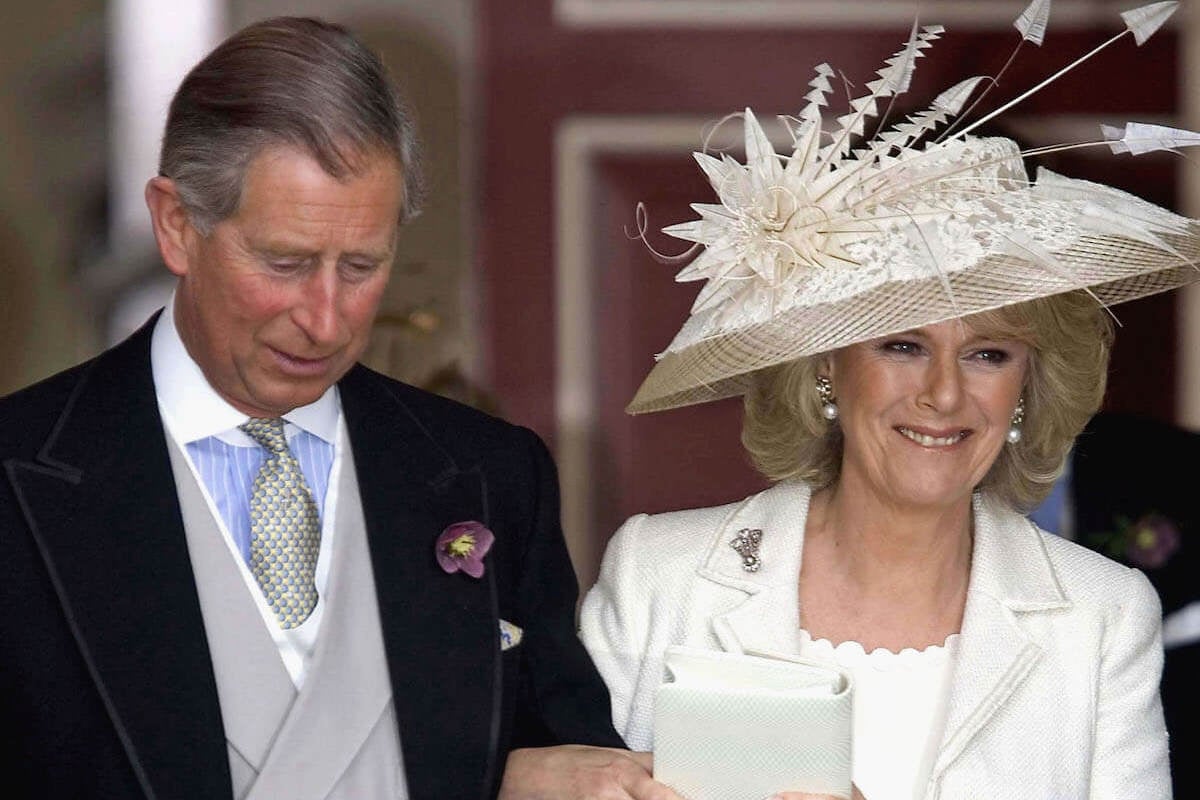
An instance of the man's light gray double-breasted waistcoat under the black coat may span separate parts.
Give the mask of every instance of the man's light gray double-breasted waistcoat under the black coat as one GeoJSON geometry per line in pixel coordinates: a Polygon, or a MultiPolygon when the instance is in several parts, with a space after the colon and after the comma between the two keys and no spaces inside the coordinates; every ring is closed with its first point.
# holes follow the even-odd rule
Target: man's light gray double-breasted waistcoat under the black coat
{"type": "Polygon", "coordinates": [[[298,692],[209,511],[167,437],[238,800],[407,800],[354,459],[337,485],[324,616],[298,692]]]}

